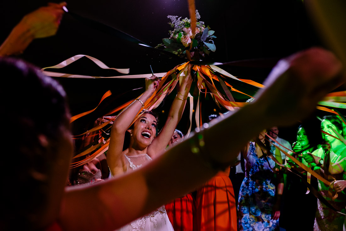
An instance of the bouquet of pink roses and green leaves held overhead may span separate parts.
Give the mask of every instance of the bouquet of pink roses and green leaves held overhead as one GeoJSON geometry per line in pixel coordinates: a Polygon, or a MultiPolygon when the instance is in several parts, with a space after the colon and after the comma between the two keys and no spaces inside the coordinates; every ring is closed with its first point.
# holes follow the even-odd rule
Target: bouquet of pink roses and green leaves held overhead
{"type": "MultiPolygon", "coordinates": [[[[195,11],[196,19],[200,19],[201,16],[198,10],[195,11]]],[[[215,52],[216,46],[214,45],[213,30],[210,30],[209,26],[205,26],[203,21],[197,21],[194,33],[191,29],[191,19],[169,15],[167,18],[171,19],[169,23],[173,29],[169,31],[170,37],[163,38],[163,44],[159,44],[156,48],[164,46],[164,50],[172,52],[182,58],[186,58],[192,61],[200,61],[210,52],[215,52]]]]}

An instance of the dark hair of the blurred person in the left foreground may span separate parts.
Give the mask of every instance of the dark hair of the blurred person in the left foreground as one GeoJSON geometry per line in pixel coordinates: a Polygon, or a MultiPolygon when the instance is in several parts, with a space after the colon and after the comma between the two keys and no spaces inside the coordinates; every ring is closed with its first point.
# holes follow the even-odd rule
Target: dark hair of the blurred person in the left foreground
{"type": "Polygon", "coordinates": [[[1,166],[10,176],[6,190],[1,190],[10,206],[3,208],[0,229],[9,224],[10,229],[21,225],[30,230],[47,204],[58,140],[69,126],[66,94],[57,81],[24,61],[0,58],[0,71],[1,121],[8,137],[1,166]],[[48,147],[40,135],[47,138],[48,147]]]}

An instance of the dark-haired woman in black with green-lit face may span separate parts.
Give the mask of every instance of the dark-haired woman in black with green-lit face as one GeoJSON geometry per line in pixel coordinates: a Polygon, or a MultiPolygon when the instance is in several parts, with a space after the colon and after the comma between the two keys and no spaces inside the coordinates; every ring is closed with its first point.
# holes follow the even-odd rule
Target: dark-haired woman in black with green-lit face
{"type": "MultiPolygon", "coordinates": [[[[316,119],[317,120],[317,119],[316,119]]],[[[317,121],[310,118],[309,121],[303,122],[298,127],[297,131],[297,141],[293,143],[293,151],[288,152],[293,157],[297,158],[304,165],[311,167],[302,158],[304,154],[308,152],[313,152],[319,148],[319,143],[321,143],[319,135],[319,128],[316,126],[317,121]]],[[[291,168],[292,171],[299,174],[306,181],[317,188],[317,178],[307,174],[299,166],[288,157],[286,157],[286,166],[291,168]]],[[[283,226],[280,221],[280,226],[284,227],[287,231],[297,230],[297,225],[295,225],[292,220],[297,217],[297,211],[304,211],[304,221],[300,223],[299,229],[301,230],[313,230],[313,224],[315,222],[315,214],[317,208],[317,198],[312,193],[308,193],[308,188],[306,184],[302,182],[302,179],[290,172],[287,173],[287,186],[285,187],[285,207],[283,210],[283,216],[285,218],[283,226]]]]}

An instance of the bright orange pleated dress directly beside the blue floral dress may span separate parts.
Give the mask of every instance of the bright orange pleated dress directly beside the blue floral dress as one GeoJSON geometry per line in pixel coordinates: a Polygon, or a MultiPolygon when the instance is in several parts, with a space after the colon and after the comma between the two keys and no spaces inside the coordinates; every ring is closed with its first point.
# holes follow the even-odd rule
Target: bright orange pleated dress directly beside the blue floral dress
{"type": "Polygon", "coordinates": [[[197,190],[196,225],[199,231],[237,231],[237,210],[228,168],[197,190]]]}

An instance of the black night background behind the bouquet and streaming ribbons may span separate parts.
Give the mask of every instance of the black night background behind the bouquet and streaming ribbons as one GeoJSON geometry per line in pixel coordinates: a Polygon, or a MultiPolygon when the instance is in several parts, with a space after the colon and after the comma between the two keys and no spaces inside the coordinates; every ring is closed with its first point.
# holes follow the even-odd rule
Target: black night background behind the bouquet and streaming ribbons
{"type": "MultiPolygon", "coordinates": [[[[7,37],[22,16],[47,2],[2,2],[0,41],[7,37]]],[[[215,62],[231,62],[219,67],[239,78],[262,82],[281,57],[311,46],[324,46],[301,0],[196,0],[195,4],[201,15],[200,20],[215,30],[217,36],[214,40],[216,52],[211,54],[211,59],[215,62]],[[243,61],[252,59],[255,61],[243,61]]],[[[189,17],[186,0],[70,0],[67,1],[67,8],[83,17],[117,28],[152,47],[161,43],[162,38],[169,37],[171,27],[167,15],[189,17]]],[[[177,57],[160,54],[152,48],[91,28],[70,14],[63,16],[55,36],[34,40],[20,57],[43,68],[77,54],[93,56],[109,67],[130,68],[131,75],[151,73],[150,65],[158,73],[167,72],[182,63],[177,57]]],[[[100,70],[86,58],[61,69],[61,72],[96,76],[122,75],[115,71],[100,70]]],[[[96,107],[107,90],[113,93],[94,113],[74,122],[74,132],[84,131],[111,108],[143,92],[142,89],[132,89],[144,87],[143,79],[56,79],[67,92],[72,115],[96,107]]],[[[162,120],[174,96],[175,94],[171,94],[167,97],[165,104],[157,109],[162,120]]],[[[236,98],[236,101],[245,100],[236,98]]],[[[202,121],[206,121],[209,114],[226,112],[209,98],[202,101],[202,121]]],[[[187,111],[185,110],[178,126],[183,132],[186,132],[189,125],[187,111]]],[[[195,127],[194,122],[192,125],[195,127]]],[[[282,128],[285,130],[282,137],[294,141],[295,127],[282,128]]]]}

